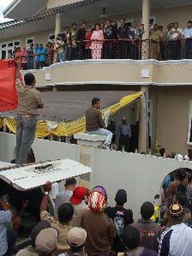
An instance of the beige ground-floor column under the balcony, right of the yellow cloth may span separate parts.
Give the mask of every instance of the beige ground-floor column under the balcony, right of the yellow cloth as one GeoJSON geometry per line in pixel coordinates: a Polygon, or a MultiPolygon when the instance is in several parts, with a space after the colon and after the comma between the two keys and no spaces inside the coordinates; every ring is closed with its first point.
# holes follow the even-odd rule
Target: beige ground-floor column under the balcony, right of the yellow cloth
{"type": "MultiPolygon", "coordinates": [[[[141,92],[148,92],[148,86],[141,86],[141,92]]],[[[147,152],[147,115],[146,115],[146,102],[144,97],[140,99],[140,129],[138,152],[147,152]]]]}

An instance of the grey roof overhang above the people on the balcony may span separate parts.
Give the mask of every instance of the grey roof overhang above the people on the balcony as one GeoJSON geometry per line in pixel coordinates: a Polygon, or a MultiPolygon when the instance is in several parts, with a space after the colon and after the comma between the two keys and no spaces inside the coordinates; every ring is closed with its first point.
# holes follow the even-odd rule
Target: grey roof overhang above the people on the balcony
{"type": "MultiPolygon", "coordinates": [[[[142,8],[142,0],[118,0],[118,5],[116,5],[116,0],[82,0],[71,4],[64,4],[63,6],[58,6],[44,12],[38,12],[36,15],[34,15],[34,13],[38,11],[38,8],[42,8],[42,6],[44,6],[46,0],[33,1],[33,6],[31,6],[30,3],[26,4],[29,1],[30,0],[15,0],[12,3],[13,6],[15,3],[15,8],[10,6],[10,11],[9,8],[7,8],[5,13],[15,13],[14,17],[19,17],[19,13],[28,17],[25,19],[13,20],[12,22],[0,24],[0,39],[10,38],[12,36],[27,35],[29,33],[31,34],[40,31],[54,31],[54,16],[57,13],[61,13],[62,15],[62,26],[67,26],[72,22],[81,22],[82,17],[84,20],[101,19],[100,15],[104,6],[106,6],[106,14],[109,17],[126,12],[141,11],[142,8]],[[33,13],[33,15],[31,16],[30,13],[33,13]]],[[[173,8],[186,4],[192,4],[191,0],[150,0],[151,9],[173,8]]],[[[13,18],[13,15],[6,15],[6,17],[13,18]]]]}

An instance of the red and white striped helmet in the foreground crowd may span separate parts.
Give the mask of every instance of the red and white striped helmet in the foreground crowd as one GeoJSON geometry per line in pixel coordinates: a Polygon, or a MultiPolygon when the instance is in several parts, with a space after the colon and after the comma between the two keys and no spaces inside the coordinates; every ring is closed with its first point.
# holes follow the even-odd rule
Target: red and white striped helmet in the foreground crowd
{"type": "Polygon", "coordinates": [[[106,209],[107,203],[107,197],[99,191],[92,191],[88,197],[90,210],[96,214],[103,212],[106,209]]]}

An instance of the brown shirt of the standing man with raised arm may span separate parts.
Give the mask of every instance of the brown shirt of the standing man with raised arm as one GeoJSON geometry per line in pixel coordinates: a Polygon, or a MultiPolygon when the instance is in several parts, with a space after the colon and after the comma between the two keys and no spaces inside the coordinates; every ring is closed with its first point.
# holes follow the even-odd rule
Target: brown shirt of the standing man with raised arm
{"type": "Polygon", "coordinates": [[[41,93],[31,86],[21,83],[19,79],[16,80],[16,88],[19,97],[18,113],[22,115],[38,115],[38,106],[43,104],[41,93]]]}

